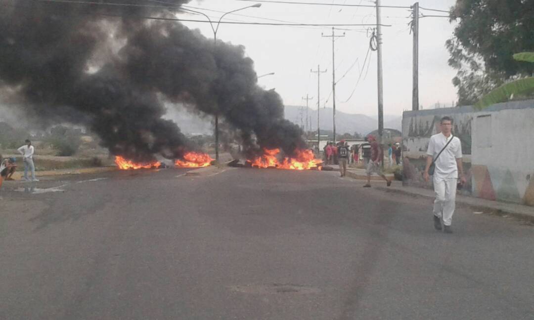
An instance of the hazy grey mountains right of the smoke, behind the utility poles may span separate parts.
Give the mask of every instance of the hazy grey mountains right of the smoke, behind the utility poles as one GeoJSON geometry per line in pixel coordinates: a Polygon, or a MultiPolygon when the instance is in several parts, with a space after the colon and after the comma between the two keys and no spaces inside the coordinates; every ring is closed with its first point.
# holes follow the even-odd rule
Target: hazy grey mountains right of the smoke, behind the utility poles
{"type": "MultiPolygon", "coordinates": [[[[299,106],[286,106],[285,117],[289,121],[301,125],[301,108],[299,106]]],[[[306,108],[302,108],[302,122],[306,129],[306,108]]],[[[321,130],[333,130],[332,108],[321,108],[319,114],[319,124],[321,130]]],[[[311,128],[317,130],[317,109],[308,109],[308,117],[311,117],[311,128]]],[[[362,114],[348,114],[336,110],[336,133],[358,132],[367,134],[378,129],[378,117],[370,117],[362,114]]],[[[308,126],[310,124],[308,123],[308,126]]],[[[384,128],[402,130],[402,116],[384,115],[384,128]]]]}

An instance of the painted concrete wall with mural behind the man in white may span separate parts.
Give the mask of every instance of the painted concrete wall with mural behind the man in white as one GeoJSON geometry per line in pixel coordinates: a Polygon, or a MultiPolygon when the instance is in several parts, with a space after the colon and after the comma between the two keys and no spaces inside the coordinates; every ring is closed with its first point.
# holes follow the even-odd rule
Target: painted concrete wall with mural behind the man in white
{"type": "Polygon", "coordinates": [[[422,181],[430,135],[439,118],[454,119],[462,141],[468,178],[464,194],[534,206],[534,100],[499,103],[483,111],[472,107],[406,111],[403,115],[405,185],[422,181]]]}

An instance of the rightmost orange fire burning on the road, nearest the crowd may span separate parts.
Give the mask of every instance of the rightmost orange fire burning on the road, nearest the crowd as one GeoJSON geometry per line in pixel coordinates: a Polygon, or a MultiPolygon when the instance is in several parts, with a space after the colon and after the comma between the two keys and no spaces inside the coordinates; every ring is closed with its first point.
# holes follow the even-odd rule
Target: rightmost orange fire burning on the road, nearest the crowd
{"type": "Polygon", "coordinates": [[[315,158],[311,150],[296,150],[295,157],[285,157],[281,162],[277,158],[280,149],[264,149],[264,152],[264,155],[251,161],[252,166],[260,168],[276,167],[288,170],[311,170],[315,168],[320,170],[319,164],[322,162],[315,158]]]}

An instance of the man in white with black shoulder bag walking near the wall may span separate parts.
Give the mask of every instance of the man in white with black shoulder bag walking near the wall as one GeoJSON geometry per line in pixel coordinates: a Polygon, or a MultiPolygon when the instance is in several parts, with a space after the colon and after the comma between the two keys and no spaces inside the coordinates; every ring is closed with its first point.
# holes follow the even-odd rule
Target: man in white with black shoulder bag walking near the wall
{"type": "Polygon", "coordinates": [[[451,223],[456,206],[458,177],[462,184],[466,182],[466,178],[462,166],[461,142],[460,139],[452,135],[452,118],[450,117],[441,118],[441,133],[434,134],[428,143],[425,181],[430,179],[428,170],[433,161],[435,165],[434,191],[436,193],[433,210],[434,228],[441,230],[441,221],[443,220],[445,233],[452,233],[451,223]],[[440,151],[442,151],[441,154],[439,154],[440,151]]]}

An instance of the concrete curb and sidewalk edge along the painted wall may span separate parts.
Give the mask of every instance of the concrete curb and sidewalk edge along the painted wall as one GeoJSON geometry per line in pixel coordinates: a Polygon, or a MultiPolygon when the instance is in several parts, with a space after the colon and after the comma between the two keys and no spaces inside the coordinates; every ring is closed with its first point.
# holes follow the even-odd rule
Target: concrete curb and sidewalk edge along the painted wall
{"type": "MultiPolygon", "coordinates": [[[[384,191],[386,193],[396,193],[412,197],[425,197],[428,199],[434,199],[433,195],[427,195],[424,193],[412,192],[409,190],[403,190],[398,188],[388,187],[374,187],[377,190],[384,191]]],[[[526,220],[530,223],[534,223],[534,208],[530,209],[528,206],[524,206],[521,210],[514,210],[511,206],[520,206],[517,204],[501,203],[497,201],[487,201],[488,203],[481,203],[485,201],[479,198],[470,197],[458,197],[456,203],[465,207],[469,207],[474,212],[482,212],[484,214],[499,215],[500,217],[513,217],[519,220],[526,220]],[[530,212],[529,212],[530,211],[530,212]]]]}

